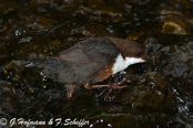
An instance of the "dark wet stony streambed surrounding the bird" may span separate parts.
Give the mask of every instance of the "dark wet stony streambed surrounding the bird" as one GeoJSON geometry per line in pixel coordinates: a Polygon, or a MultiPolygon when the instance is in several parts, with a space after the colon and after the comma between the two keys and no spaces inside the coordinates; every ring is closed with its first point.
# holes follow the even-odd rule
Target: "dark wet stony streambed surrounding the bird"
{"type": "MultiPolygon", "coordinates": [[[[84,119],[83,127],[91,128],[193,127],[192,4],[192,0],[0,1],[0,119],[84,119]],[[63,84],[37,67],[26,67],[29,57],[45,58],[93,36],[136,40],[153,60],[126,68],[123,89],[109,93],[81,86],[70,100],[63,84]]],[[[121,81],[118,76],[102,84],[121,81]]]]}

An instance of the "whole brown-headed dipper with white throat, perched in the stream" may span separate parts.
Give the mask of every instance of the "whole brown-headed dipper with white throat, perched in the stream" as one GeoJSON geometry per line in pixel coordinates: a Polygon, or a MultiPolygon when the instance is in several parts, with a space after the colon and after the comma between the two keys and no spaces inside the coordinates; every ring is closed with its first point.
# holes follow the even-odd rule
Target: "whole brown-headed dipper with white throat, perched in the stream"
{"type": "Polygon", "coordinates": [[[68,88],[68,97],[84,85],[85,88],[102,87],[100,83],[112,74],[149,58],[144,49],[136,42],[116,38],[91,38],[72,47],[50,56],[33,60],[44,75],[68,88]]]}

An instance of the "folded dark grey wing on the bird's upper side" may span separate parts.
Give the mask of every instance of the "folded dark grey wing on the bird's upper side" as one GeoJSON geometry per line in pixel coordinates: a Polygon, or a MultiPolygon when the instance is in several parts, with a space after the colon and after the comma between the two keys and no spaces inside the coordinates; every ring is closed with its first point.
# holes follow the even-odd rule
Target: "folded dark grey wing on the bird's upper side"
{"type": "Polygon", "coordinates": [[[82,41],[51,57],[78,63],[105,63],[118,54],[116,46],[109,39],[98,38],[82,41]]]}

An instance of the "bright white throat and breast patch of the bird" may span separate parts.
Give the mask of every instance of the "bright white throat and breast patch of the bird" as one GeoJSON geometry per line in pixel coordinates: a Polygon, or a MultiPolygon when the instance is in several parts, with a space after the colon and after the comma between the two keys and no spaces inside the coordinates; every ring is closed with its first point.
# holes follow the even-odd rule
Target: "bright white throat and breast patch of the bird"
{"type": "Polygon", "coordinates": [[[138,58],[138,57],[125,57],[125,60],[124,60],[120,53],[115,58],[114,65],[112,66],[112,72],[113,72],[113,74],[115,74],[120,71],[125,70],[128,66],[130,66],[132,64],[143,63],[143,62],[145,62],[145,61],[142,58],[138,58]]]}

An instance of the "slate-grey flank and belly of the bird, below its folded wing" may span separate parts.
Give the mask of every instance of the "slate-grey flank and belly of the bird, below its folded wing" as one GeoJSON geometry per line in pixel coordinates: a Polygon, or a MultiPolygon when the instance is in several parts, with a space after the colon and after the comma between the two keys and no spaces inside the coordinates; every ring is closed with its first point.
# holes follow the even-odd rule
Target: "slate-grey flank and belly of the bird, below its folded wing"
{"type": "Polygon", "coordinates": [[[42,68],[47,77],[59,83],[75,85],[103,81],[95,81],[94,77],[99,75],[98,71],[105,66],[99,63],[83,64],[57,58],[44,60],[44,62],[37,62],[35,64],[42,68]]]}

